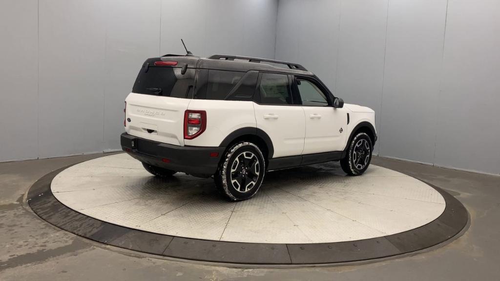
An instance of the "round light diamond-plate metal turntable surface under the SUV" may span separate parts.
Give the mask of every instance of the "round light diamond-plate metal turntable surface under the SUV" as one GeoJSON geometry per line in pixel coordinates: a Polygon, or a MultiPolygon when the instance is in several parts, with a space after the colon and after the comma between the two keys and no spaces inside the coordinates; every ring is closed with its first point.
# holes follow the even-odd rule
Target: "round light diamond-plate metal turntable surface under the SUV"
{"type": "Polygon", "coordinates": [[[125,153],[71,166],[51,183],[64,205],[125,227],[208,240],[320,243],[422,226],[445,208],[431,186],[370,165],[346,176],[338,163],[268,172],[253,198],[229,202],[211,178],[155,178],[125,153]]]}

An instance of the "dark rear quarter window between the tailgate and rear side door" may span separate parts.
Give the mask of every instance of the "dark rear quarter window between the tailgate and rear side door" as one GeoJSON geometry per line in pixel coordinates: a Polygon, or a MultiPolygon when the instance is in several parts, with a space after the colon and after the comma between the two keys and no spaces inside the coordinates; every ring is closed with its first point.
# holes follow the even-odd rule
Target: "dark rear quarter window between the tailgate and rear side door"
{"type": "Polygon", "coordinates": [[[258,72],[208,70],[205,84],[194,98],[218,100],[251,100],[258,72]]]}

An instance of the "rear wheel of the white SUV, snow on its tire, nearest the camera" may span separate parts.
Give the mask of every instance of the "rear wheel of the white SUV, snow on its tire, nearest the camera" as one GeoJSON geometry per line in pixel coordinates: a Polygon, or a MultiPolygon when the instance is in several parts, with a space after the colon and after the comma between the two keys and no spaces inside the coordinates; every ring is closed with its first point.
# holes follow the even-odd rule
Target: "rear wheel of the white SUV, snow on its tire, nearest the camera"
{"type": "Polygon", "coordinates": [[[246,200],[255,195],[264,178],[265,163],[257,145],[243,141],[234,144],[215,172],[215,186],[230,200],[246,200]]]}

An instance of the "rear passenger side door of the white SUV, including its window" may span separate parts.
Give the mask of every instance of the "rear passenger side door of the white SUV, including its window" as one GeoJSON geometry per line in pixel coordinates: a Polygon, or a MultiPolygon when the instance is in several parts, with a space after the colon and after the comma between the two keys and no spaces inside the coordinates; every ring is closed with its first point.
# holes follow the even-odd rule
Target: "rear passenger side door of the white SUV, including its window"
{"type": "Polygon", "coordinates": [[[300,155],[304,146],[305,117],[295,105],[291,92],[291,76],[262,72],[254,97],[257,128],[272,140],[275,157],[300,155]]]}

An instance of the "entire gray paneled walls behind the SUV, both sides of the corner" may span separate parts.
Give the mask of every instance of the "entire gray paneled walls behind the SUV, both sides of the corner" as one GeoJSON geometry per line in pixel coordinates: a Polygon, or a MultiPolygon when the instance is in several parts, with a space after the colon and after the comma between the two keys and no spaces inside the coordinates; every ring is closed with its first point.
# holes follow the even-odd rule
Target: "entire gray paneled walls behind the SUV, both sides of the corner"
{"type": "Polygon", "coordinates": [[[0,161],[119,149],[147,57],[289,60],[375,110],[375,152],[500,173],[495,0],[4,0],[0,161]]]}

